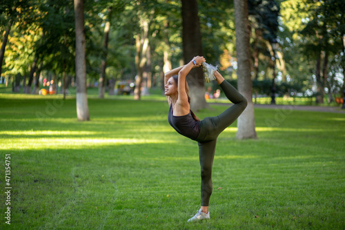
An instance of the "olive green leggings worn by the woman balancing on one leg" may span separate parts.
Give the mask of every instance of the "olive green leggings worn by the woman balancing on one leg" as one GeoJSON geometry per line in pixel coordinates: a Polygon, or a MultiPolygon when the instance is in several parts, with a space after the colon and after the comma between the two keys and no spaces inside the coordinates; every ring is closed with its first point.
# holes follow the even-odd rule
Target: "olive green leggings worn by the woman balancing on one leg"
{"type": "Polygon", "coordinates": [[[212,165],[218,135],[230,126],[244,111],[247,101],[230,83],[219,85],[233,105],[217,117],[205,117],[200,122],[200,133],[197,137],[199,145],[199,162],[201,167],[201,206],[208,206],[212,194],[212,165]]]}

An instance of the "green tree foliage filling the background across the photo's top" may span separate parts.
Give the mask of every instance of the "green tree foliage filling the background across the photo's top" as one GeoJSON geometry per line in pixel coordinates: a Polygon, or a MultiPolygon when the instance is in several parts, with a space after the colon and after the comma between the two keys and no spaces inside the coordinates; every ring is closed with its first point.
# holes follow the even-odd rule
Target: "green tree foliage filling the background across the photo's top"
{"type": "MultiPolygon", "coordinates": [[[[285,95],[320,97],[320,103],[326,95],[339,97],[345,69],[344,5],[341,0],[248,0],[252,79],[272,79],[277,66],[277,84],[299,86],[285,95]]],[[[228,79],[237,79],[233,1],[197,1],[197,6],[202,54],[209,63],[218,64],[228,79]]],[[[108,91],[114,88],[110,82],[134,82],[141,72],[141,86],[162,87],[164,66],[177,66],[184,57],[181,7],[181,1],[167,0],[86,1],[88,86],[98,84],[106,60],[108,91]],[[107,21],[108,46],[103,46],[107,21]],[[136,40],[143,38],[145,49],[138,50],[136,40]],[[138,56],[139,52],[145,53],[138,56]]],[[[41,86],[43,79],[58,84],[66,73],[66,84],[73,86],[74,15],[71,1],[1,1],[1,77],[30,88],[33,79],[41,86]]]]}

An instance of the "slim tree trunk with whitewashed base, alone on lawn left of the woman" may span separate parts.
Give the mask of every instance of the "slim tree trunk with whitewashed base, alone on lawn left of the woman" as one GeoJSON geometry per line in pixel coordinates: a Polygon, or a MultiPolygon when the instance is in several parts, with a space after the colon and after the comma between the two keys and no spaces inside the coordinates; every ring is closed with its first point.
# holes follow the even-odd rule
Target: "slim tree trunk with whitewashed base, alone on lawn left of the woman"
{"type": "Polygon", "coordinates": [[[77,83],[77,117],[79,121],[90,120],[86,94],[86,55],[84,30],[84,3],[75,0],[75,72],[77,83]]]}

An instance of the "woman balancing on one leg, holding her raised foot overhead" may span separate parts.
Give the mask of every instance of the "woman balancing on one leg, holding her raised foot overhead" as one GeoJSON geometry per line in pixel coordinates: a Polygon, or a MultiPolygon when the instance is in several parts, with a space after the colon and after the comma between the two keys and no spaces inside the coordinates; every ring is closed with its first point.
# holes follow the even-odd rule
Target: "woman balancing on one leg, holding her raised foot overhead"
{"type": "Polygon", "coordinates": [[[175,130],[198,142],[199,162],[201,166],[201,208],[188,222],[209,219],[208,203],[212,193],[212,164],[215,157],[215,146],[219,133],[235,122],[235,119],[244,111],[247,101],[233,86],[224,80],[217,68],[206,64],[204,57],[194,57],[192,61],[168,71],[164,75],[164,93],[168,99],[168,122],[175,130]],[[206,117],[199,120],[190,111],[190,97],[186,76],[192,68],[202,66],[206,82],[215,79],[223,89],[226,97],[233,102],[233,106],[226,109],[217,117],[206,117]]]}

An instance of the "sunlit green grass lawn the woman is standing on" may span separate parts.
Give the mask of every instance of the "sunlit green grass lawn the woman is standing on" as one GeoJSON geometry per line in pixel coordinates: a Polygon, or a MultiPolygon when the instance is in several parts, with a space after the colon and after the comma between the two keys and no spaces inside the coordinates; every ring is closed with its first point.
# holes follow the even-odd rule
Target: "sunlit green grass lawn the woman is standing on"
{"type": "MultiPolygon", "coordinates": [[[[345,116],[255,109],[257,140],[221,133],[210,220],[197,143],[166,102],[0,94],[0,229],[345,229],[345,116]],[[10,154],[11,224],[5,157],[10,154]]],[[[213,116],[226,106],[197,113],[213,116]]]]}

